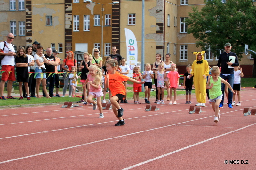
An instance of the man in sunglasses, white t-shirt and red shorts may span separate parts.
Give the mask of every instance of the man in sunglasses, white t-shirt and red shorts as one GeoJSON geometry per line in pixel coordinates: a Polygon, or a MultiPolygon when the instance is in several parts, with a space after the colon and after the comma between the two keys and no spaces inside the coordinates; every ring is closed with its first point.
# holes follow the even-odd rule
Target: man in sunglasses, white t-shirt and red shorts
{"type": "Polygon", "coordinates": [[[0,49],[3,50],[3,52],[0,52],[0,55],[5,55],[2,59],[2,69],[1,71],[4,71],[2,73],[2,80],[0,82],[0,99],[6,100],[4,98],[4,85],[5,82],[8,80],[7,83],[7,99],[15,99],[11,96],[11,90],[12,90],[12,83],[16,80],[15,72],[14,72],[14,59],[16,56],[14,46],[12,44],[12,41],[14,39],[14,35],[12,33],[9,33],[7,35],[7,40],[0,43],[0,49]]]}

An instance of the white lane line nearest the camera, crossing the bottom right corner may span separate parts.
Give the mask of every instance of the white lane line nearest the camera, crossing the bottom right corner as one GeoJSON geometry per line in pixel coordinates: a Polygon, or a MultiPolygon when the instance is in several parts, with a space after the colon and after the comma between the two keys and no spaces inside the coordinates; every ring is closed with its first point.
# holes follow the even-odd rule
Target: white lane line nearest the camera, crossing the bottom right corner
{"type": "Polygon", "coordinates": [[[169,155],[171,155],[171,154],[173,154],[173,153],[177,153],[177,152],[183,151],[183,150],[185,150],[185,149],[188,149],[188,148],[190,148],[190,147],[193,147],[193,146],[202,144],[202,143],[204,143],[204,142],[208,142],[208,141],[210,141],[210,140],[213,140],[213,139],[216,139],[216,138],[219,138],[219,137],[228,135],[228,134],[230,134],[230,133],[233,133],[233,132],[236,132],[236,131],[240,131],[240,130],[242,130],[242,129],[244,129],[244,128],[253,126],[253,125],[255,125],[255,124],[256,124],[256,123],[250,124],[250,125],[248,125],[248,126],[244,126],[244,127],[242,127],[242,128],[236,129],[236,130],[234,130],[234,131],[230,131],[230,132],[224,133],[224,134],[222,134],[222,135],[215,136],[215,137],[213,137],[213,138],[209,138],[209,139],[203,140],[203,141],[201,141],[201,142],[195,143],[195,144],[193,144],[193,145],[189,145],[189,146],[186,146],[186,147],[184,147],[184,148],[180,148],[180,149],[178,149],[178,150],[176,150],[176,151],[166,153],[166,154],[161,155],[161,156],[158,156],[158,157],[156,157],[156,158],[148,159],[148,160],[146,160],[146,161],[144,161],[144,162],[140,162],[140,163],[138,163],[138,164],[135,164],[135,165],[133,165],[133,166],[129,166],[129,167],[124,168],[124,169],[122,169],[122,170],[132,169],[132,168],[135,168],[135,167],[137,167],[137,166],[146,164],[146,163],[148,163],[148,162],[152,162],[152,161],[154,161],[154,160],[164,158],[165,156],[169,156],[169,155]]]}

